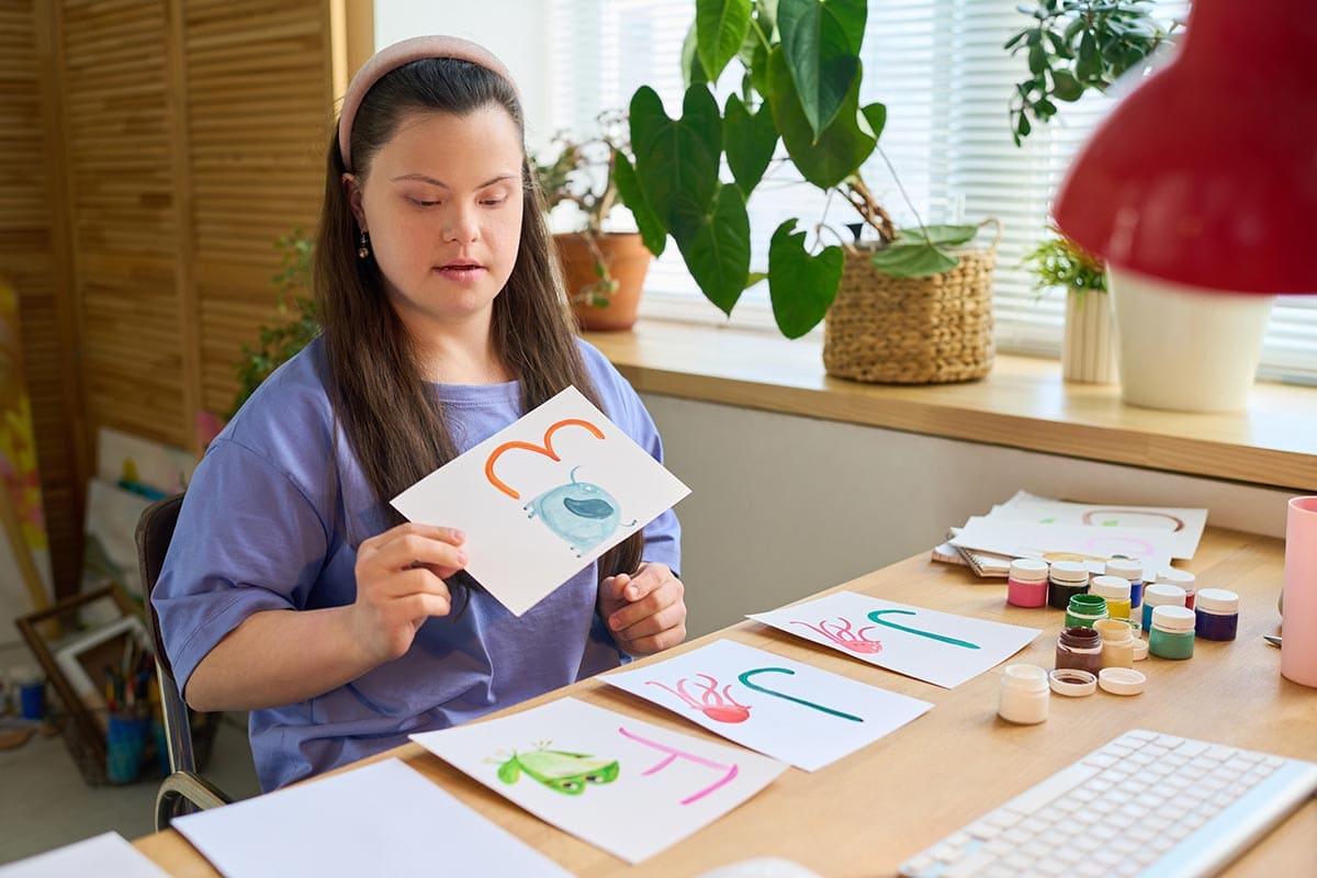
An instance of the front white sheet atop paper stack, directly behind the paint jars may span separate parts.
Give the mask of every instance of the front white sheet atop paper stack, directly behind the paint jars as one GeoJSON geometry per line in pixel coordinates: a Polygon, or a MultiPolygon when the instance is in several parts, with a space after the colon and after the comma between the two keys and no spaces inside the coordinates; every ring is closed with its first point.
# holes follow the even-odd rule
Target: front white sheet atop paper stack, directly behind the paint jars
{"type": "Polygon", "coordinates": [[[975,516],[950,542],[1011,558],[1077,561],[1088,566],[1089,573],[1100,574],[1106,561],[1115,555],[1138,558],[1148,571],[1166,570],[1171,566],[1175,541],[1169,530],[1150,528],[1093,528],[975,516]]]}

